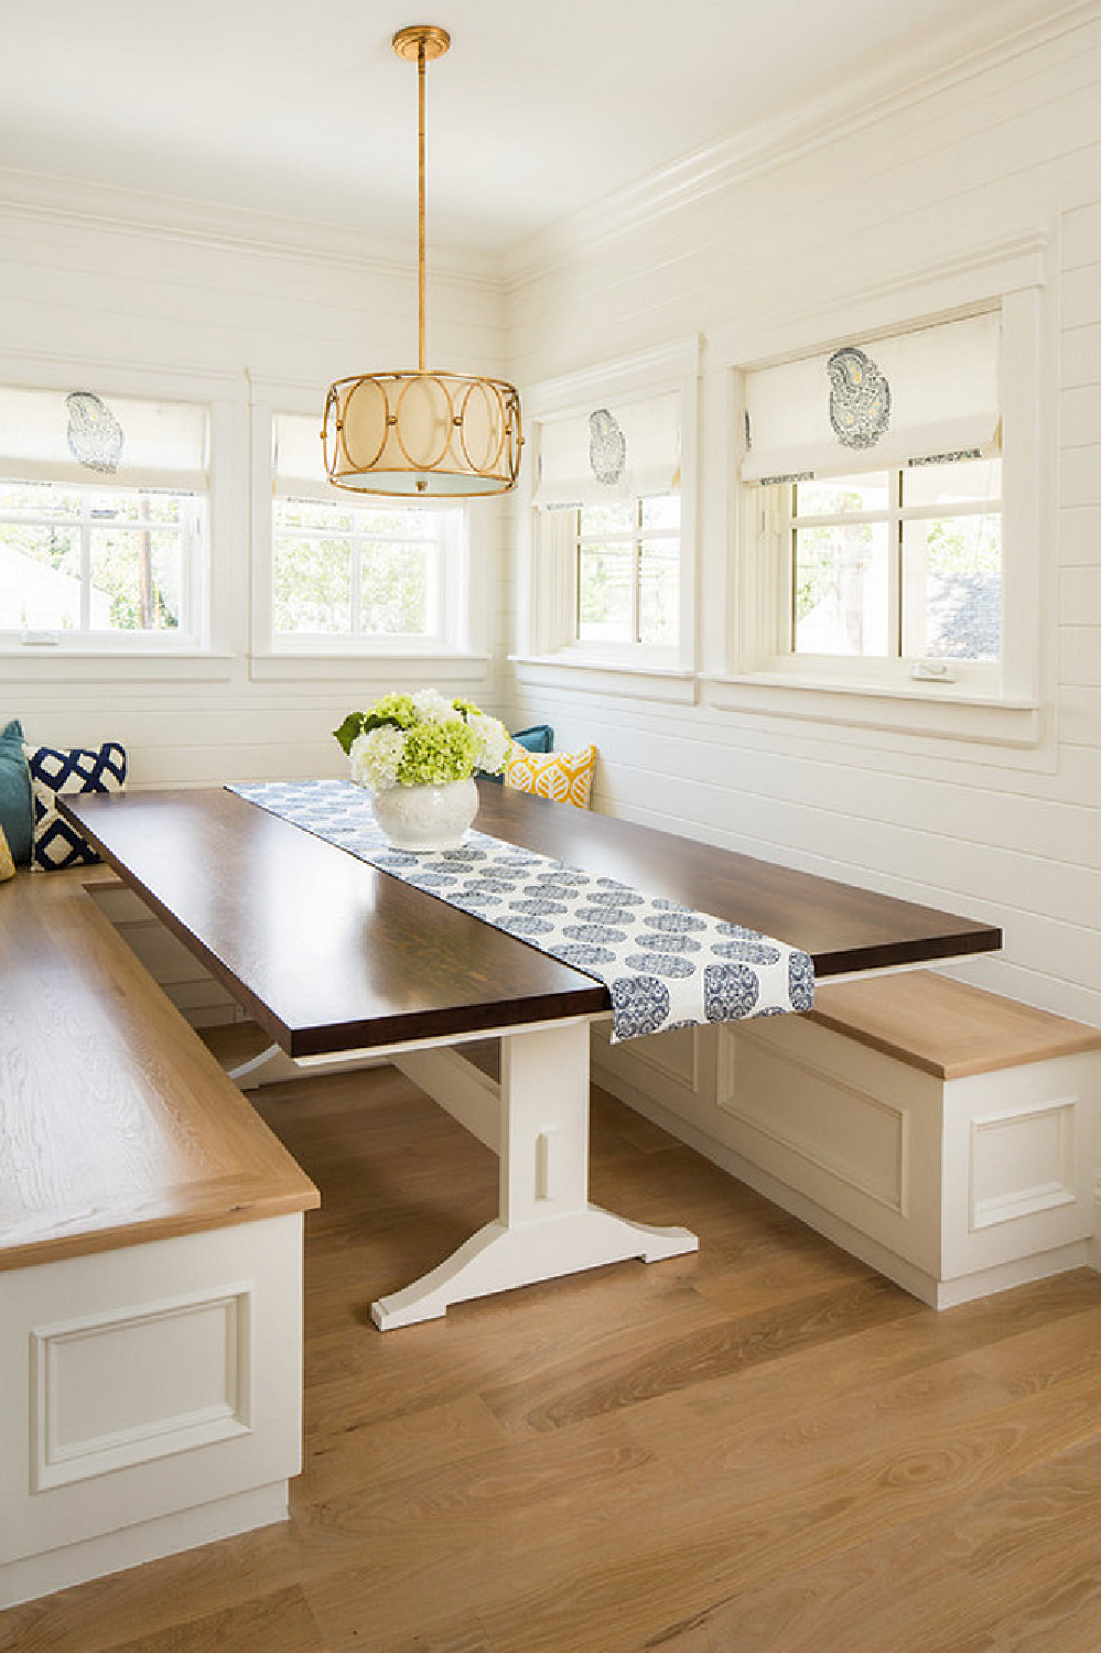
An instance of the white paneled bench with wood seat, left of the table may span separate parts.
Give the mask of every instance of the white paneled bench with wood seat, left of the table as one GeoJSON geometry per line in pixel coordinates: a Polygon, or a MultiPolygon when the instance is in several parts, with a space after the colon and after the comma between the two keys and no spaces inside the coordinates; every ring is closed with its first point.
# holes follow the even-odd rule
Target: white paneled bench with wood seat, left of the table
{"type": "Polygon", "coordinates": [[[317,1190],[88,894],[0,889],[0,1608],[286,1516],[317,1190]]]}

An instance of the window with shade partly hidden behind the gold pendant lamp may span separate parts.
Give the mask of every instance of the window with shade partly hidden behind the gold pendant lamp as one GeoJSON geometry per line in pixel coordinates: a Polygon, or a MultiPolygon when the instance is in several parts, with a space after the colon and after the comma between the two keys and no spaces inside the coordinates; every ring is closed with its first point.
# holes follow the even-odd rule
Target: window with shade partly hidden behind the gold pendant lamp
{"type": "Polygon", "coordinates": [[[465,509],[337,493],[316,420],[276,415],[273,443],[273,646],[458,643],[465,509]]]}

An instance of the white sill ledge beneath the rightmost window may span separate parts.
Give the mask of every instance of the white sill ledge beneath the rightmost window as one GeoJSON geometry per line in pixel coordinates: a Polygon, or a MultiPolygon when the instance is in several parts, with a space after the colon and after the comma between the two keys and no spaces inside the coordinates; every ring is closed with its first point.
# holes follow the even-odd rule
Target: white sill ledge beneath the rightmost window
{"type": "Polygon", "coordinates": [[[856,684],[832,678],[787,678],[769,671],[708,674],[701,683],[706,686],[708,703],[721,711],[994,746],[1032,747],[1043,737],[1037,701],[977,694],[954,684],[856,684]]]}

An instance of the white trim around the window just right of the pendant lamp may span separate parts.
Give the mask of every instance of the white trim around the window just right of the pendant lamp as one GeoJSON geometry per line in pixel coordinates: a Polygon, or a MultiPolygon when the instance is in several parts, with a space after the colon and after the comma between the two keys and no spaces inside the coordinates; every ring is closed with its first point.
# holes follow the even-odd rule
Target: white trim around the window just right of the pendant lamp
{"type": "MultiPolygon", "coordinates": [[[[536,464],[527,463],[519,489],[517,648],[509,655],[521,683],[577,688],[646,699],[696,698],[696,522],[698,522],[698,336],[549,379],[522,392],[524,420],[532,450],[539,423],[589,413],[593,402],[640,402],[679,393],[681,398],[681,613],[676,648],[648,643],[580,643],[575,638],[574,562],[565,554],[572,532],[539,531],[536,464]],[[555,544],[557,539],[557,544],[555,544]]],[[[547,524],[559,512],[544,514],[547,524]]],[[[570,512],[560,516],[569,521],[570,512]]]]}

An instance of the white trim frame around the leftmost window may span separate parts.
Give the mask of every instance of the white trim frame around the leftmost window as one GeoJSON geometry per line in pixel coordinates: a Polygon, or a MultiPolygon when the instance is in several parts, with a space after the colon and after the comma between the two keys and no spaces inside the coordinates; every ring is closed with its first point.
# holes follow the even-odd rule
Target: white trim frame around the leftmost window
{"type": "MultiPolygon", "coordinates": [[[[226,681],[233,658],[230,547],[246,532],[240,489],[248,453],[248,385],[243,374],[190,374],[174,367],[119,367],[98,359],[0,355],[0,382],[68,392],[93,385],[104,397],[190,402],[210,418],[207,567],[200,570],[197,628],[172,633],[56,633],[50,643],[0,633],[0,683],[226,681]]],[[[31,633],[33,636],[33,633],[31,633]]]]}

